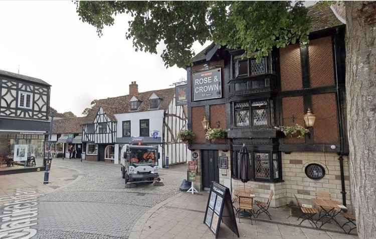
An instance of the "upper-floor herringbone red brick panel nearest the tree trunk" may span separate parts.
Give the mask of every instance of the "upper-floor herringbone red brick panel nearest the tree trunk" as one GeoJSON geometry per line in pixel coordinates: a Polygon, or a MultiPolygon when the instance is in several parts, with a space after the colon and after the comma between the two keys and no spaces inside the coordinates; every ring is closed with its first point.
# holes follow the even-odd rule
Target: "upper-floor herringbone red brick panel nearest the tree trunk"
{"type": "Polygon", "coordinates": [[[331,37],[310,41],[308,51],[311,87],[334,85],[331,37]]]}

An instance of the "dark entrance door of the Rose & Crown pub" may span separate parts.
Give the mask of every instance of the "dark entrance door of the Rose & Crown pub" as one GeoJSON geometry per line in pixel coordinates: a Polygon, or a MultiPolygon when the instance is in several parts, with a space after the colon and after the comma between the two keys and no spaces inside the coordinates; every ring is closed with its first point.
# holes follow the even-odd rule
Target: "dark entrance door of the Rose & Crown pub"
{"type": "Polygon", "coordinates": [[[211,182],[219,182],[218,150],[202,150],[202,178],[204,190],[210,190],[211,182]]]}

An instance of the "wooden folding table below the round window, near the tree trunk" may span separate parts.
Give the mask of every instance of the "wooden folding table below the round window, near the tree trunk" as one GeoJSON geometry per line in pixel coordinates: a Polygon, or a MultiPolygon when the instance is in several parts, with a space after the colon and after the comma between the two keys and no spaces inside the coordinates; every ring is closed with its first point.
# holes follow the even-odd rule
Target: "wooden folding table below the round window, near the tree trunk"
{"type": "Polygon", "coordinates": [[[317,206],[321,207],[321,209],[325,212],[320,218],[317,220],[321,221],[321,228],[323,225],[325,225],[327,222],[333,220],[337,225],[342,228],[342,226],[338,223],[338,221],[335,219],[335,216],[338,215],[341,210],[344,208],[343,205],[341,205],[339,202],[330,200],[330,199],[321,199],[321,198],[315,198],[313,199],[313,203],[317,206]],[[324,221],[324,218],[328,218],[326,221],[324,221]]]}

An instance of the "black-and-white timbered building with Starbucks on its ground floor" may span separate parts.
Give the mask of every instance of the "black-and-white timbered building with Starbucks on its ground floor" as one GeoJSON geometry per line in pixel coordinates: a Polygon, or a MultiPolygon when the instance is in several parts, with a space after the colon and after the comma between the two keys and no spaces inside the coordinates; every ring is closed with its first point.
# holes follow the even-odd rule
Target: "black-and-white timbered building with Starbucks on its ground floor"
{"type": "Polygon", "coordinates": [[[50,89],[41,79],[0,70],[0,175],[44,170],[50,89]]]}

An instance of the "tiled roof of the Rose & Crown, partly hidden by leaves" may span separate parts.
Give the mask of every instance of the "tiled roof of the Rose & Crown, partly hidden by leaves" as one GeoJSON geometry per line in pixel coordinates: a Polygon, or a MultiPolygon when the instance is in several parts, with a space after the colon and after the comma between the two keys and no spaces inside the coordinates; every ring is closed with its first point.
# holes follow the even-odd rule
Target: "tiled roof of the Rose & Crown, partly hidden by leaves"
{"type": "MultiPolygon", "coordinates": [[[[310,32],[316,32],[316,31],[323,30],[326,28],[343,25],[343,23],[341,23],[337,19],[333,11],[327,5],[316,4],[316,5],[307,7],[307,9],[308,9],[307,15],[311,19],[310,32]]],[[[204,50],[202,50],[201,52],[199,52],[197,55],[195,55],[192,58],[192,62],[205,60],[206,53],[214,46],[215,44],[212,43],[206,48],[204,48],[204,50]]]]}

